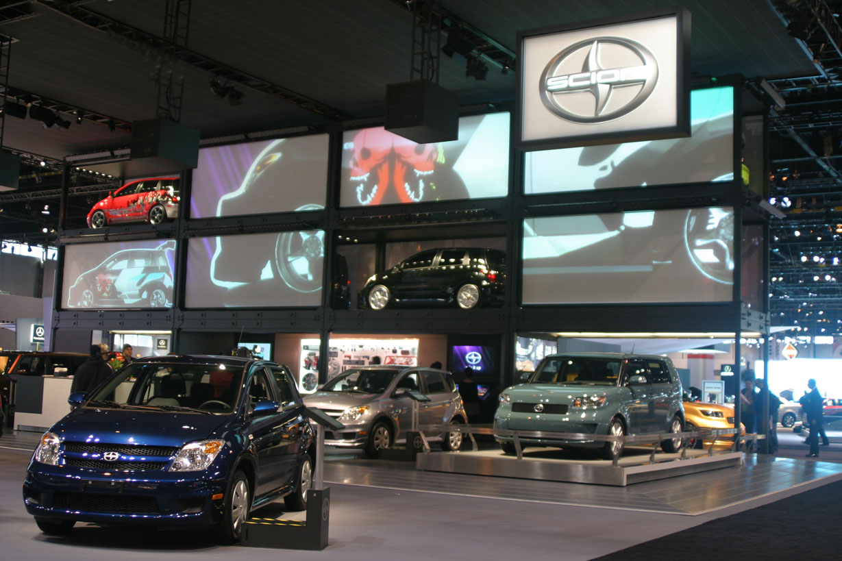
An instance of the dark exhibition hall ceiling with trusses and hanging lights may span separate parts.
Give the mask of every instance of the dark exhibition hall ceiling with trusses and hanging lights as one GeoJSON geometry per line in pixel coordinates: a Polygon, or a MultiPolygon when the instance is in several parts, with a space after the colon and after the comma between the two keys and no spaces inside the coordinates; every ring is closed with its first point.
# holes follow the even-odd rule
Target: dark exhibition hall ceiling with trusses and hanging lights
{"type": "MultiPolygon", "coordinates": [[[[662,4],[443,0],[443,28],[461,29],[488,73],[481,80],[466,76],[464,58],[441,56],[440,85],[457,93],[463,106],[508,104],[516,62],[511,72],[503,66],[514,56],[520,29],[662,4]]],[[[815,330],[829,327],[817,318],[833,314],[842,326],[842,295],[835,281],[823,280],[842,281],[833,264],[837,232],[828,229],[842,224],[839,0],[684,4],[692,14],[694,77],[764,77],[786,100],[785,109],[769,110],[770,195],[786,216],[772,225],[771,275],[784,279],[770,290],[775,322],[813,322],[815,330]],[[785,196],[788,206],[781,202],[785,196]],[[814,262],[813,255],[825,261],[814,262]]],[[[63,158],[128,147],[132,124],[157,114],[159,72],[165,83],[171,76],[184,84],[180,102],[171,99],[169,109],[204,139],[380,117],[386,84],[410,79],[412,8],[413,0],[0,1],[0,34],[13,39],[8,99],[58,111],[69,123],[45,128],[40,120],[6,115],[3,148],[20,153],[24,165],[19,191],[0,193],[0,233],[35,243],[45,241],[43,228],[47,236],[57,229],[56,213],[37,211],[57,204],[63,158]],[[173,7],[189,8],[174,44],[165,26],[173,7]],[[239,104],[211,91],[215,77],[242,93],[239,104]]],[[[117,179],[73,170],[67,181],[80,191],[69,204],[82,210],[117,179]]]]}

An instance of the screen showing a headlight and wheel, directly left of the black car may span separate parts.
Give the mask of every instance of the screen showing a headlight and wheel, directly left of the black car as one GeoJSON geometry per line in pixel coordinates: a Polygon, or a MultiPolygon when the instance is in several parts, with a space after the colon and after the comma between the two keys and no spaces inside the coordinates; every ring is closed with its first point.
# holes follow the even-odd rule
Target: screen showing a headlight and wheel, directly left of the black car
{"type": "Polygon", "coordinates": [[[322,230],[190,238],[184,305],[318,306],[323,267],[322,230]]]}

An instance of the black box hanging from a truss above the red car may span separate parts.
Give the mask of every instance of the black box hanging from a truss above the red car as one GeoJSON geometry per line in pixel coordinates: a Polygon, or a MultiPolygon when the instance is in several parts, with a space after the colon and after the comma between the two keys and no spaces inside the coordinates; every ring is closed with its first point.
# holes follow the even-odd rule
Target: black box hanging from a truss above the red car
{"type": "Polygon", "coordinates": [[[136,120],[129,154],[161,173],[192,169],[199,163],[199,131],[168,119],[136,120]]]}

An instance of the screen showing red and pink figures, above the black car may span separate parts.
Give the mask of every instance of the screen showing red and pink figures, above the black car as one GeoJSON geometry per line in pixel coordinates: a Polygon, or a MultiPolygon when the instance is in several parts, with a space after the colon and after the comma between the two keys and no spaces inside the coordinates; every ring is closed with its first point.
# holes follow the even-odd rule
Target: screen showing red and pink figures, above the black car
{"type": "Polygon", "coordinates": [[[462,117],[459,138],[417,144],[382,126],[343,133],[340,206],[509,195],[509,114],[462,117]]]}

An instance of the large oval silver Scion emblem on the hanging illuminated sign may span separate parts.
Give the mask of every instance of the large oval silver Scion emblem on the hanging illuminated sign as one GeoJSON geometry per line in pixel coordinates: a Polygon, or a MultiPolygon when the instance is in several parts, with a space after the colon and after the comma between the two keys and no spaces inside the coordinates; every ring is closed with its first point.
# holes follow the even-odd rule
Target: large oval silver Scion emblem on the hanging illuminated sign
{"type": "Polygon", "coordinates": [[[658,62],[646,47],[619,37],[599,37],[579,41],[553,56],[541,73],[539,90],[546,109],[562,119],[604,123],[637,109],[657,82],[658,62]],[[578,68],[573,65],[583,55],[581,70],[575,72],[578,68]],[[616,93],[626,88],[635,90],[616,93]],[[583,94],[593,99],[585,100],[583,94]]]}

